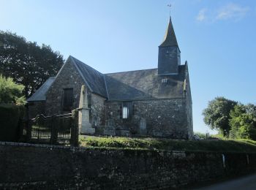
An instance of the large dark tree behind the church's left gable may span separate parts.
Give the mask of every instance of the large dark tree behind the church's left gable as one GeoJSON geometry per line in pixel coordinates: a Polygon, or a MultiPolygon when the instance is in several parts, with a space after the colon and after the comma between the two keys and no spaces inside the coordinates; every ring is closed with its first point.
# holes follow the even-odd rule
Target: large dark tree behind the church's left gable
{"type": "Polygon", "coordinates": [[[17,34],[0,31],[0,73],[22,84],[26,98],[48,77],[55,76],[62,64],[63,56],[49,45],[39,46],[17,34]]]}

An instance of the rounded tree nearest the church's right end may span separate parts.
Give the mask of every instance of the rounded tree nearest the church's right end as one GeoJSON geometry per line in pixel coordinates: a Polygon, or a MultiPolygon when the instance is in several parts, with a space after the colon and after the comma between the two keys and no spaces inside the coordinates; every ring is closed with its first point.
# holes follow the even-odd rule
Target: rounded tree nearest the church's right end
{"type": "Polygon", "coordinates": [[[217,97],[208,102],[208,107],[203,110],[203,121],[211,129],[217,129],[228,138],[230,132],[230,110],[233,110],[237,102],[224,97],[217,97]]]}

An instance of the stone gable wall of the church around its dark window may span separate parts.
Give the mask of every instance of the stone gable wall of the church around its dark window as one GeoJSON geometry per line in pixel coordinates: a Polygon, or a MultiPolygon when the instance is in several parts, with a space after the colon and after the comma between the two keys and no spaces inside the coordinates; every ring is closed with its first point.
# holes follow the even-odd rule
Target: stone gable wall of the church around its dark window
{"type": "Polygon", "coordinates": [[[82,85],[84,85],[83,78],[80,77],[78,70],[71,62],[67,62],[46,95],[46,115],[64,113],[62,106],[64,88],[73,88],[72,109],[78,108],[82,85]]]}

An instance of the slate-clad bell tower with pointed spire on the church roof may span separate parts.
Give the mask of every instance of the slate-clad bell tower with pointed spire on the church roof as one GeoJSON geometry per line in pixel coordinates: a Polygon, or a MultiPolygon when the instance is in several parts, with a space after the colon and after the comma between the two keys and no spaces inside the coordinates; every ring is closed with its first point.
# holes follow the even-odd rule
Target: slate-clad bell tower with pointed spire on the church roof
{"type": "Polygon", "coordinates": [[[158,75],[177,75],[178,66],[181,64],[181,51],[170,18],[165,38],[159,45],[158,75]]]}

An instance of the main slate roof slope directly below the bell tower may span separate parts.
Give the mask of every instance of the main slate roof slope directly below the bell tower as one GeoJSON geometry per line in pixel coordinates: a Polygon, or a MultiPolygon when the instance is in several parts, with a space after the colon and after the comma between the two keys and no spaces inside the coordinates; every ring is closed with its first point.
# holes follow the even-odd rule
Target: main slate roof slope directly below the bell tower
{"type": "Polygon", "coordinates": [[[169,99],[183,96],[185,65],[178,75],[157,75],[157,69],[105,74],[108,100],[169,99]],[[162,83],[167,79],[167,83],[162,83]]]}

